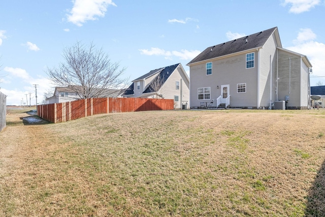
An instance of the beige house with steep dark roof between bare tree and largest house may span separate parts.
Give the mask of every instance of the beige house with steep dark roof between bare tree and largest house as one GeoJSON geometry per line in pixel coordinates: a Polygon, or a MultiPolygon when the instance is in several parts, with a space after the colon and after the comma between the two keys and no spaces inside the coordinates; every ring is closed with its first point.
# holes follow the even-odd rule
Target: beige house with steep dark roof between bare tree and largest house
{"type": "Polygon", "coordinates": [[[135,79],[124,97],[174,99],[174,107],[189,103],[189,78],[181,63],[158,68],[135,79]]]}

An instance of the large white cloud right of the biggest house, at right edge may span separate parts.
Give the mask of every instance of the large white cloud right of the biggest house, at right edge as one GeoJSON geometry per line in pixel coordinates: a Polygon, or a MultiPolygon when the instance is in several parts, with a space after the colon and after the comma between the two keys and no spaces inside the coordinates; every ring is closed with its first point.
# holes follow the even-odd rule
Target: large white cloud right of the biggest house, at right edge
{"type": "Polygon", "coordinates": [[[307,56],[313,66],[312,76],[325,76],[325,44],[314,39],[316,34],[311,29],[300,29],[297,39],[293,40],[295,46],[286,49],[307,56]]]}

